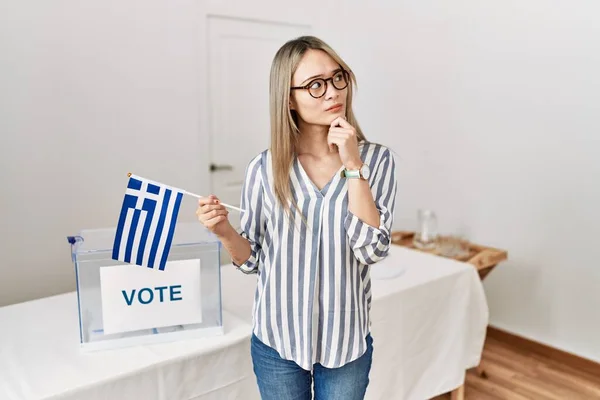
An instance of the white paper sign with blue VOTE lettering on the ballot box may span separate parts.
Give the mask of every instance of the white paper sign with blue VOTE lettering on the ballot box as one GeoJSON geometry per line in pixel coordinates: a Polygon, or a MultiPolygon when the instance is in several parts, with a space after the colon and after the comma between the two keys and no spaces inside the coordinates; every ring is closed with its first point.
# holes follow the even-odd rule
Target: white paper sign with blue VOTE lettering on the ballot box
{"type": "Polygon", "coordinates": [[[104,333],[202,322],[200,260],[100,268],[104,333]]]}

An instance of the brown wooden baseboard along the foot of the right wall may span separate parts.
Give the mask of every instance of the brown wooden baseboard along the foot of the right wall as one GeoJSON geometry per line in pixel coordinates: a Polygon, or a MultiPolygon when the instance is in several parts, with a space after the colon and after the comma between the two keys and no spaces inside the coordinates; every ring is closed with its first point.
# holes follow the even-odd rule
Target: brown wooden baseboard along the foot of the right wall
{"type": "Polygon", "coordinates": [[[543,357],[548,357],[577,370],[600,376],[600,363],[593,360],[507,332],[492,325],[487,328],[487,336],[543,357]]]}

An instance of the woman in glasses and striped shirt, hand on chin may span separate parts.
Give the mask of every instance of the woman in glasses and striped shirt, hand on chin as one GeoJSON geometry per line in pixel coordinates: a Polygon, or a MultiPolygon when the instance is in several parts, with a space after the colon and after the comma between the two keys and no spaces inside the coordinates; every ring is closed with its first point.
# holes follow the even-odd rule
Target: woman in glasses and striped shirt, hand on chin
{"type": "Polygon", "coordinates": [[[387,255],[395,164],[352,111],[354,75],[315,37],[284,44],[270,81],[271,146],[242,189],[241,234],[215,196],[199,220],[258,274],[251,354],[263,399],[362,399],[373,354],[369,266],[387,255]]]}

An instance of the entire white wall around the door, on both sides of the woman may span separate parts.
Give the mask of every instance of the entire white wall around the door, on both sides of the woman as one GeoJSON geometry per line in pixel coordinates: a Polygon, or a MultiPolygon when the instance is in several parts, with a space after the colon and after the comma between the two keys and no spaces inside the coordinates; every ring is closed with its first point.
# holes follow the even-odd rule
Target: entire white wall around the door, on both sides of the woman
{"type": "Polygon", "coordinates": [[[114,225],[127,171],[208,185],[207,10],[312,15],[358,75],[367,136],[398,154],[396,226],[413,228],[427,206],[443,230],[506,248],[485,282],[491,322],[600,361],[600,6],[347,2],[313,14],[310,3],[234,3],[5,7],[0,305],[73,290],[65,236],[114,225]]]}

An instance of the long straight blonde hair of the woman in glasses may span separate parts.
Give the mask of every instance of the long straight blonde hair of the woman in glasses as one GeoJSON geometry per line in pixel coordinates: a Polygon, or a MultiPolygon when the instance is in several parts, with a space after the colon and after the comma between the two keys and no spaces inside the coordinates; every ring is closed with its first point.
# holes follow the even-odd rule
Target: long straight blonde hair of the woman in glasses
{"type": "Polygon", "coordinates": [[[300,130],[298,116],[290,109],[290,87],[292,76],[307,50],[322,50],[329,54],[340,67],[349,74],[348,97],[346,99],[346,120],[356,129],[358,140],[365,136],[352,111],[352,94],[357,85],[354,73],[342,58],[325,42],[314,36],[301,36],[286,42],[275,54],[271,65],[269,84],[269,107],[271,110],[271,156],[273,160],[273,180],[275,196],[290,214],[289,202],[292,199],[289,174],[294,161],[294,153],[300,130]]]}

